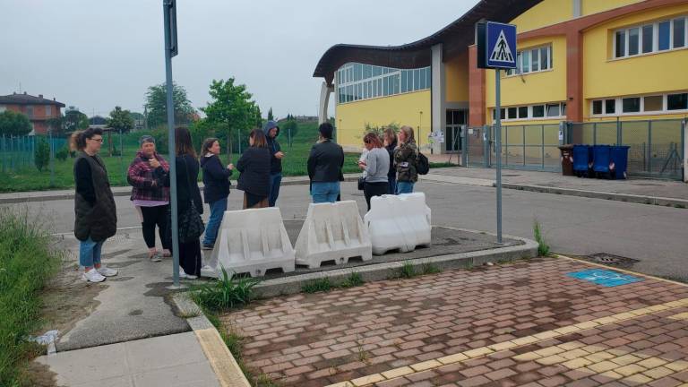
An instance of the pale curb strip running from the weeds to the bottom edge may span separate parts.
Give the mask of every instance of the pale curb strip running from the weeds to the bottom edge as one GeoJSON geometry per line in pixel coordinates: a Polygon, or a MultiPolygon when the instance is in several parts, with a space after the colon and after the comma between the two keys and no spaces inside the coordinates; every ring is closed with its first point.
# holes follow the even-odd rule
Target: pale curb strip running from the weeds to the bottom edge
{"type": "Polygon", "coordinates": [[[201,308],[186,293],[177,293],[173,299],[181,314],[193,316],[187,318],[186,323],[193,330],[203,353],[208,357],[219,385],[221,387],[251,387],[251,383],[248,382],[232,353],[229,352],[219,331],[203,314],[201,308]]]}

